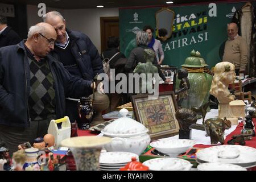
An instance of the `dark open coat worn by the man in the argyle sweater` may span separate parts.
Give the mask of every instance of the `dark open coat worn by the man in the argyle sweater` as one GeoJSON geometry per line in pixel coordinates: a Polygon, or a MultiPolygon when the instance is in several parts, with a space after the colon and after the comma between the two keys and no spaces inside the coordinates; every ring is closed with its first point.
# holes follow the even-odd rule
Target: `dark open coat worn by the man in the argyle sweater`
{"type": "MultiPolygon", "coordinates": [[[[72,76],[54,57],[47,57],[56,99],[56,119],[65,116],[65,97],[92,92],[91,81],[72,76]]],[[[30,115],[30,68],[24,42],[0,48],[0,125],[28,127],[30,115]]]]}

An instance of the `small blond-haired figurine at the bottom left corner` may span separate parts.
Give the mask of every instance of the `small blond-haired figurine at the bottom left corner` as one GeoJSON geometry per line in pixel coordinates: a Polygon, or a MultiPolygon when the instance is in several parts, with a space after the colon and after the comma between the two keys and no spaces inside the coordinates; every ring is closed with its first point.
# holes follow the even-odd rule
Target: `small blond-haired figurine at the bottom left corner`
{"type": "Polygon", "coordinates": [[[18,150],[13,153],[13,170],[23,171],[23,165],[26,162],[26,154],[24,150],[18,150]]]}

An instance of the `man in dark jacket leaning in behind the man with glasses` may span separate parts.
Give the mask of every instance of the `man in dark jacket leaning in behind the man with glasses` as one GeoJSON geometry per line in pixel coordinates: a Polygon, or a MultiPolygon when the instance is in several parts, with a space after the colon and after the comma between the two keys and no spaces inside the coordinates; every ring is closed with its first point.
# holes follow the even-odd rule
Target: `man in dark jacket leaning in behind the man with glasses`
{"type": "MultiPolygon", "coordinates": [[[[97,48],[88,36],[81,32],[67,30],[65,19],[57,11],[51,11],[44,15],[43,21],[55,28],[57,40],[53,56],[63,63],[69,73],[85,80],[92,80],[97,73],[104,72],[97,48]]],[[[66,112],[71,122],[75,120],[80,122],[77,101],[79,98],[66,98],[66,112]]]]}

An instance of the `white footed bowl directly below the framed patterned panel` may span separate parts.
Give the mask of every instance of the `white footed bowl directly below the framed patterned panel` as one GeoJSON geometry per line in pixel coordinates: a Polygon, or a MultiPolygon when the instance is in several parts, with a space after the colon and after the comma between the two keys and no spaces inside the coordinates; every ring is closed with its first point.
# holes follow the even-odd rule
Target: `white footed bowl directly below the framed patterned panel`
{"type": "Polygon", "coordinates": [[[164,154],[170,155],[171,158],[176,158],[177,155],[187,151],[188,148],[193,147],[195,144],[195,140],[166,138],[151,142],[150,146],[164,154]]]}

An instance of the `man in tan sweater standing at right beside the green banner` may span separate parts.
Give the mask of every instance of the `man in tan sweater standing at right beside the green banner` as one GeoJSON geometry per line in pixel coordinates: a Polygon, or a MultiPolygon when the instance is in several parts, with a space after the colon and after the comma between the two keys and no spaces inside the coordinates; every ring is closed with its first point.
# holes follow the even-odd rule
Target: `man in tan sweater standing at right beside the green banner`
{"type": "Polygon", "coordinates": [[[222,61],[228,61],[236,66],[236,74],[246,73],[245,69],[248,62],[248,50],[245,39],[238,35],[236,23],[228,24],[228,40],[225,43],[222,61]]]}

